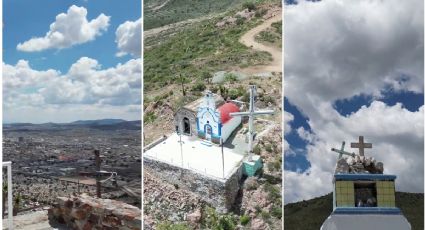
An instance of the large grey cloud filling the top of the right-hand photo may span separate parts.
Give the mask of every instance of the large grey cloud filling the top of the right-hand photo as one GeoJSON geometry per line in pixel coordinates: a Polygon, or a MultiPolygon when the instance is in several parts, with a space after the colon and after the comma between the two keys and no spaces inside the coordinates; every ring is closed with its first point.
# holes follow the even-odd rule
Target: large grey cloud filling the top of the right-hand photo
{"type": "Polygon", "coordinates": [[[420,0],[287,6],[285,95],[301,107],[313,95],[320,101],[379,96],[386,85],[423,92],[422,6],[420,0]]]}

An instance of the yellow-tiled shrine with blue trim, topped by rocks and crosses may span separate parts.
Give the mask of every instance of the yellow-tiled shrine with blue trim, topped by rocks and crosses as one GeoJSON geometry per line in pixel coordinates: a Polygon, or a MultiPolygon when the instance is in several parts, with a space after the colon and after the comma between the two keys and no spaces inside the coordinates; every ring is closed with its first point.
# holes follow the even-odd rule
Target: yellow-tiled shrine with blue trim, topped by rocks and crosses
{"type": "Polygon", "coordinates": [[[359,154],[340,149],[333,179],[333,212],[321,230],[409,230],[409,222],[395,204],[395,175],[384,174],[384,164],[365,156],[371,143],[351,143],[359,154]]]}

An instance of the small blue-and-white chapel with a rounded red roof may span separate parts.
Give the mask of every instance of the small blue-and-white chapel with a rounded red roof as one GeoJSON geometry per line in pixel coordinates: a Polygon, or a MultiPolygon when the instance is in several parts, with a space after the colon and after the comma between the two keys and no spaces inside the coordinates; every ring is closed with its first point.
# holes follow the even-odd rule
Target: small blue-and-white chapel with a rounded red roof
{"type": "Polygon", "coordinates": [[[242,123],[242,117],[230,116],[230,113],[240,112],[240,108],[237,102],[225,102],[219,95],[207,91],[203,98],[175,113],[176,132],[216,144],[224,143],[242,123]]]}

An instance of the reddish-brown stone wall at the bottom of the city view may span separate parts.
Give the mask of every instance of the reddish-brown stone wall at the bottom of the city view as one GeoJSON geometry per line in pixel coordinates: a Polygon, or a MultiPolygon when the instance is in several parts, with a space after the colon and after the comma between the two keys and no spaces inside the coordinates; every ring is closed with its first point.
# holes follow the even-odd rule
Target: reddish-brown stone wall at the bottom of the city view
{"type": "Polygon", "coordinates": [[[141,210],[129,204],[88,195],[58,197],[49,220],[72,229],[141,229],[141,210]]]}

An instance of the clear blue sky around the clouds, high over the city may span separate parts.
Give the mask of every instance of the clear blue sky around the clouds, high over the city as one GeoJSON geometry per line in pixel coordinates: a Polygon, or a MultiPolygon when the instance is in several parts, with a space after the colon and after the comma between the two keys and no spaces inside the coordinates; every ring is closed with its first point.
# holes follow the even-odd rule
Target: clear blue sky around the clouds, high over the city
{"type": "Polygon", "coordinates": [[[115,56],[117,52],[115,30],[125,21],[135,21],[140,18],[141,1],[43,0],[43,4],[40,3],[40,1],[29,0],[3,1],[3,61],[5,63],[15,64],[20,59],[26,59],[31,61],[31,67],[34,69],[54,68],[64,73],[81,56],[94,58],[103,67],[113,67],[119,62],[123,63],[131,59],[131,56],[120,58],[115,56]],[[31,37],[44,36],[56,15],[66,12],[71,5],[85,7],[88,11],[88,19],[93,19],[101,13],[110,15],[108,31],[95,41],[63,50],[26,53],[16,49],[19,42],[31,37]]]}

